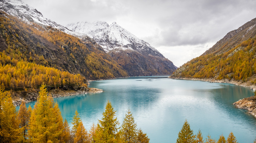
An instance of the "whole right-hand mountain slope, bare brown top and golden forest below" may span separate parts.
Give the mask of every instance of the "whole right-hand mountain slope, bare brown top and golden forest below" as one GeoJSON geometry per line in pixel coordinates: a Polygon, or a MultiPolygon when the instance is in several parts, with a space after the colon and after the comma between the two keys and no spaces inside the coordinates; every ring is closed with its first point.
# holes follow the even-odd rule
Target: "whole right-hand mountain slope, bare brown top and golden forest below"
{"type": "Polygon", "coordinates": [[[233,30],[203,55],[175,71],[172,78],[200,78],[245,86],[256,83],[256,18],[233,30]]]}

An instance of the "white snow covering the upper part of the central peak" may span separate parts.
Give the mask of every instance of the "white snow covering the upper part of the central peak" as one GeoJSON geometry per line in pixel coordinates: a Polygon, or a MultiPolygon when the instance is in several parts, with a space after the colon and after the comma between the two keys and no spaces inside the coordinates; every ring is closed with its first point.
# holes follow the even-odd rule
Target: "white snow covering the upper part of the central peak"
{"type": "Polygon", "coordinates": [[[110,26],[106,22],[78,22],[66,26],[74,32],[88,35],[94,39],[106,52],[112,50],[135,50],[139,53],[163,57],[149,43],[113,22],[110,26]]]}

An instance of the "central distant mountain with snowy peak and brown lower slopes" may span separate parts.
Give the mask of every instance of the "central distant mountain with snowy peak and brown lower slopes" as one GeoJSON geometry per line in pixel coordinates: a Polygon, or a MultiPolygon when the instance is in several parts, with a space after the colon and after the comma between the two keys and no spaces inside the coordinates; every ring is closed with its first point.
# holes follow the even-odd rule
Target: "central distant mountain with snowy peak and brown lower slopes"
{"type": "Polygon", "coordinates": [[[140,40],[116,22],[78,22],[66,26],[94,39],[130,76],[171,74],[177,69],[149,43],[140,40]]]}

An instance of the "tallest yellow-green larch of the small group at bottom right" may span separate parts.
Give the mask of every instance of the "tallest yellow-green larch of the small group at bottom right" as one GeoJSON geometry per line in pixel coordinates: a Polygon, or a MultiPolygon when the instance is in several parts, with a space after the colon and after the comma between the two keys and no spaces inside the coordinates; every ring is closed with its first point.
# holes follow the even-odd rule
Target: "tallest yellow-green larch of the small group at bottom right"
{"type": "Polygon", "coordinates": [[[190,125],[186,119],[178,134],[176,143],[193,143],[194,141],[195,135],[193,135],[193,130],[190,129],[190,125]]]}

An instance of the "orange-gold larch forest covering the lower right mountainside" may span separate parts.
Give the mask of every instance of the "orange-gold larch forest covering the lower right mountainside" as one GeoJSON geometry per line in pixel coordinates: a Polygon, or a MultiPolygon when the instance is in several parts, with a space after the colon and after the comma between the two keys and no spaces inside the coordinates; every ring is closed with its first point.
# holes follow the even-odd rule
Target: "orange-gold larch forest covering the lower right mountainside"
{"type": "Polygon", "coordinates": [[[172,77],[235,79],[256,83],[256,37],[220,55],[202,55],[182,65],[172,77]]]}

